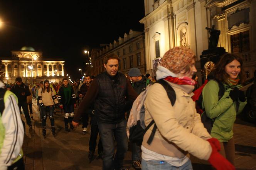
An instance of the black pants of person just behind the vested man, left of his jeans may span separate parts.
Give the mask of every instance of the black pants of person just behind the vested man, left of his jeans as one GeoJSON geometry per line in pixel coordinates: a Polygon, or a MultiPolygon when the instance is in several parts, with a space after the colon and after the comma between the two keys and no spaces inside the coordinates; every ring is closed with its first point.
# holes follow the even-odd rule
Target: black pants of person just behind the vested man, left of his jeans
{"type": "MultiPolygon", "coordinates": [[[[95,151],[96,145],[97,145],[97,137],[99,134],[99,128],[98,125],[91,124],[91,136],[89,140],[89,151],[95,151]]],[[[103,152],[103,147],[101,143],[101,138],[99,138],[98,143],[98,153],[103,152]]]]}

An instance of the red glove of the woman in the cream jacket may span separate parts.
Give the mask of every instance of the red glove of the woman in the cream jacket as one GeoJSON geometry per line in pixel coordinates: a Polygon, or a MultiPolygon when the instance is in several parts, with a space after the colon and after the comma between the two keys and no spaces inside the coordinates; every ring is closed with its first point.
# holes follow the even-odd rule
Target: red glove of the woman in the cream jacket
{"type": "MultiPolygon", "coordinates": [[[[232,165],[226,158],[224,158],[216,148],[216,139],[211,138],[208,139],[211,147],[212,147],[212,153],[210,158],[208,159],[209,163],[216,168],[216,170],[235,170],[234,165],[232,165]],[[211,142],[210,142],[211,141],[211,142]]],[[[217,144],[217,147],[219,146],[219,143],[217,144]]]]}

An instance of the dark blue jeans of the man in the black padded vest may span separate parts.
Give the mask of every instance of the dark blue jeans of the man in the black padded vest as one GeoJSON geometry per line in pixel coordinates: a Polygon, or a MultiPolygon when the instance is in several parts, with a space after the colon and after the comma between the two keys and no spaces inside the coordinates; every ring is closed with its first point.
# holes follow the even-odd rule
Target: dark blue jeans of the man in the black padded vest
{"type": "Polygon", "coordinates": [[[117,124],[98,122],[99,135],[103,145],[103,170],[119,170],[123,166],[128,149],[126,123],[126,120],[117,124]],[[117,143],[116,155],[114,137],[117,143]]]}

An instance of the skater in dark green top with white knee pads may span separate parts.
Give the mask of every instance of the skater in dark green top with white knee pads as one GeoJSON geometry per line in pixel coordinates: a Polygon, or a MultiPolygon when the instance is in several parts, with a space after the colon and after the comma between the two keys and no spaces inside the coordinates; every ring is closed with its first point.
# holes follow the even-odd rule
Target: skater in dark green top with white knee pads
{"type": "Polygon", "coordinates": [[[58,99],[60,102],[60,108],[64,110],[64,123],[65,123],[65,130],[66,132],[69,132],[69,126],[72,129],[74,129],[74,126],[72,125],[72,120],[74,118],[74,107],[76,107],[76,95],[74,93],[74,89],[71,85],[69,85],[69,82],[67,78],[62,79],[62,86],[59,88],[59,95],[58,99]]]}

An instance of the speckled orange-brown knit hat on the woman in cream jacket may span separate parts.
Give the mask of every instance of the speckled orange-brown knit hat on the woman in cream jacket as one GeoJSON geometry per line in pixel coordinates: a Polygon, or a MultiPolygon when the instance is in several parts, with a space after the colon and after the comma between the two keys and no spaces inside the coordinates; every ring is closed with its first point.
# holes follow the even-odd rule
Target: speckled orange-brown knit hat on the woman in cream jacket
{"type": "Polygon", "coordinates": [[[185,47],[174,47],[168,50],[161,58],[161,66],[177,74],[192,61],[195,54],[185,47]]]}

